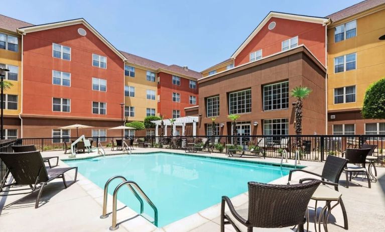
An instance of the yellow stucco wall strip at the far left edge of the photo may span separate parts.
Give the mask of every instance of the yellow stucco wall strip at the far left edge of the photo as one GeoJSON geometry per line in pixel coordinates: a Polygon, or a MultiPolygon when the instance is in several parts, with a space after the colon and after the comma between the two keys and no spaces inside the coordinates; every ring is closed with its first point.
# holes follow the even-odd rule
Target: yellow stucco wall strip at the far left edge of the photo
{"type": "MultiPolygon", "coordinates": [[[[10,33],[6,31],[0,30],[0,33],[12,35],[12,36],[18,36],[16,33],[10,33]]],[[[19,37],[19,51],[18,52],[13,52],[5,49],[0,49],[0,63],[2,64],[9,64],[9,65],[14,65],[19,67],[19,72],[18,72],[18,80],[7,80],[13,84],[11,89],[6,90],[4,93],[5,94],[13,94],[13,95],[18,95],[18,109],[5,109],[4,114],[5,115],[18,115],[21,110],[21,93],[22,93],[22,81],[21,81],[21,73],[22,73],[22,41],[21,38],[19,37]]]]}

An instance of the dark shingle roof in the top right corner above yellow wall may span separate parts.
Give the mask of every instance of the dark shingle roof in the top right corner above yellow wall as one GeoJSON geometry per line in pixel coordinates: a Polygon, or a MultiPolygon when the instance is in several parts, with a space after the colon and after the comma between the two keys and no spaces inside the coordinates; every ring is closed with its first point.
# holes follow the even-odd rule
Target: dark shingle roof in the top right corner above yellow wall
{"type": "Polygon", "coordinates": [[[348,18],[360,12],[369,10],[371,8],[377,7],[385,3],[385,0],[366,0],[360,3],[357,3],[353,6],[345,8],[341,11],[333,13],[331,15],[326,16],[326,18],[330,18],[333,22],[348,18]]]}

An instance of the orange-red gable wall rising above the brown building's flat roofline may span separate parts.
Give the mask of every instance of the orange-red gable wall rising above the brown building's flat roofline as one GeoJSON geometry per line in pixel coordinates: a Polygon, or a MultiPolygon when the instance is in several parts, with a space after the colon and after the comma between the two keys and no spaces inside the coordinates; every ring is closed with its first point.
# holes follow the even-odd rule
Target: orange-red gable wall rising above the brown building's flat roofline
{"type": "Polygon", "coordinates": [[[325,65],[325,33],[325,26],[321,24],[272,17],[235,57],[234,65],[248,63],[250,53],[260,49],[263,57],[280,52],[282,41],[295,36],[298,36],[298,45],[304,44],[325,65]],[[273,21],[276,27],[269,30],[268,26],[273,21]]]}

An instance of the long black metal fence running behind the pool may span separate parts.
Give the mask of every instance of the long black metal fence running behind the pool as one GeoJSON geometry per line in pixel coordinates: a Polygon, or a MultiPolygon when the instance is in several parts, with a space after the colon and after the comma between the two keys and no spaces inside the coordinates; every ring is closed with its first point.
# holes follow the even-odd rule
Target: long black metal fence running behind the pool
{"type": "MultiPolygon", "coordinates": [[[[19,144],[33,144],[40,151],[57,151],[69,147],[77,138],[25,138],[19,144]],[[64,143],[66,142],[66,143],[64,143]]],[[[122,137],[87,138],[93,147],[110,147],[122,137]]],[[[328,155],[342,156],[346,148],[360,148],[362,144],[375,144],[373,156],[377,165],[385,165],[385,135],[310,135],[310,136],[173,136],[126,137],[134,139],[135,146],[185,150],[188,146],[204,147],[214,153],[227,153],[230,149],[243,150],[244,154],[261,151],[266,157],[281,158],[284,152],[294,159],[298,151],[301,160],[324,161],[328,155]],[[300,145],[300,146],[298,146],[300,145]],[[250,151],[252,150],[252,151],[250,151]]]]}

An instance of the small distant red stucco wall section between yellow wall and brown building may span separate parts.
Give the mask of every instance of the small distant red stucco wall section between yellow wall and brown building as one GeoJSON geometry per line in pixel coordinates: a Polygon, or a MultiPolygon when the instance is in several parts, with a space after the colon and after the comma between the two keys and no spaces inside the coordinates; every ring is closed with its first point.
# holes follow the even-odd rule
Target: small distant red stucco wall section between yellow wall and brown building
{"type": "MultiPolygon", "coordinates": [[[[181,117],[185,117],[185,107],[194,106],[189,103],[190,96],[196,96],[198,103],[198,84],[196,89],[189,87],[189,79],[181,77],[181,84],[172,83],[172,75],[169,73],[159,72],[160,83],[158,84],[158,94],[160,101],[158,102],[158,112],[165,119],[172,118],[173,109],[180,110],[181,117]],[[173,92],[180,93],[180,102],[172,101],[173,92]]],[[[196,104],[195,104],[196,105],[196,104]]]]}

